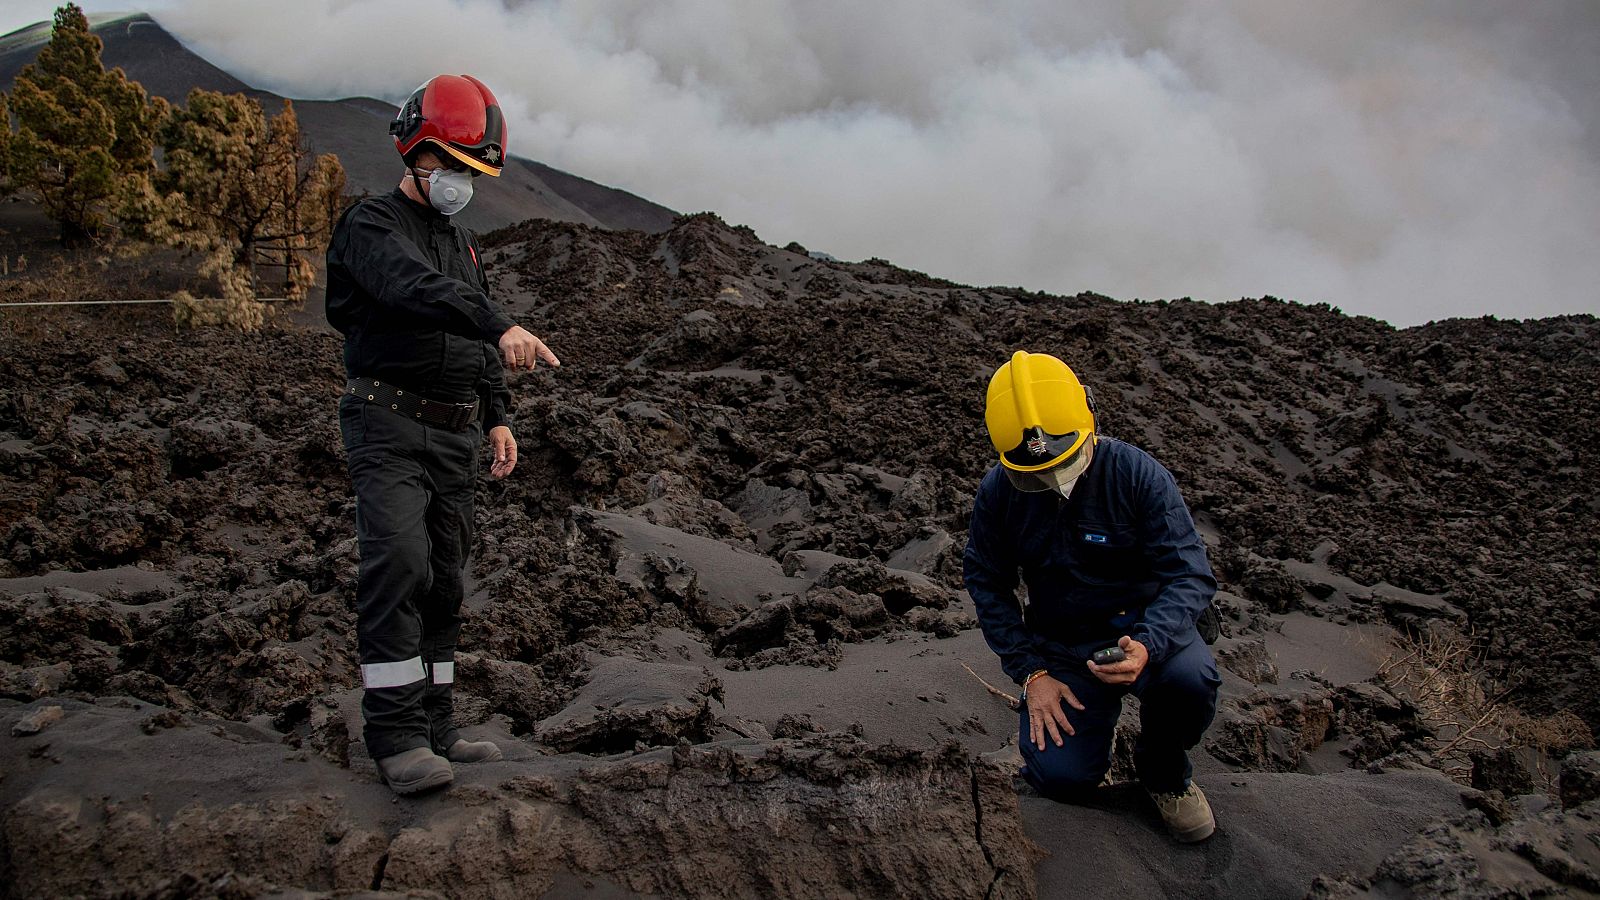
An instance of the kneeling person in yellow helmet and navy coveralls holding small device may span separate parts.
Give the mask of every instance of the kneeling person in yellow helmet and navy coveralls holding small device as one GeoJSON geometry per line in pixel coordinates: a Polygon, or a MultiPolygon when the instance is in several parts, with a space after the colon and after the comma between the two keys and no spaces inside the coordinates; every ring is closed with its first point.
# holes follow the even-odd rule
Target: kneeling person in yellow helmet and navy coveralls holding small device
{"type": "Polygon", "coordinates": [[[1098,436],[1093,399],[1051,356],[1018,351],[994,373],[984,424],[1000,463],[973,503],[965,578],[1022,685],[1022,777],[1053,799],[1099,785],[1133,693],[1139,781],[1173,838],[1205,841],[1216,822],[1187,749],[1216,714],[1221,679],[1195,628],[1216,580],[1173,476],[1098,436]]]}

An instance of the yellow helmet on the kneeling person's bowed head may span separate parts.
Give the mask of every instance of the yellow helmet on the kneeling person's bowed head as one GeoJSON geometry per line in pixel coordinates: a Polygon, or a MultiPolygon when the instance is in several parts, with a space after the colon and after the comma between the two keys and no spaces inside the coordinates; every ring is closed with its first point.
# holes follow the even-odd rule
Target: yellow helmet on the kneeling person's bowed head
{"type": "Polygon", "coordinates": [[[1072,368],[1016,351],[989,380],[984,426],[1018,490],[1051,490],[1083,474],[1094,450],[1094,408],[1072,368]]]}

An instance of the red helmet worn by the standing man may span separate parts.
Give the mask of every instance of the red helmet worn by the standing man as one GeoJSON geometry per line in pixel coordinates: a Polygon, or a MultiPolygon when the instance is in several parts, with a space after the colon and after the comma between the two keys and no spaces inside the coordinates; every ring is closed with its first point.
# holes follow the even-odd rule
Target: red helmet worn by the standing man
{"type": "Polygon", "coordinates": [[[485,175],[499,175],[506,163],[506,117],[472,75],[429,78],[400,107],[389,133],[406,162],[429,143],[485,175]]]}

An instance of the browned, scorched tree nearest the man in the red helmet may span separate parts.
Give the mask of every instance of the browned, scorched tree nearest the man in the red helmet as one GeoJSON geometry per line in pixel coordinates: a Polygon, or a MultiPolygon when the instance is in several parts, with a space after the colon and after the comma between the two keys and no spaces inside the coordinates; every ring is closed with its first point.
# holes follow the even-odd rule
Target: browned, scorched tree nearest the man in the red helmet
{"type": "Polygon", "coordinates": [[[294,106],[283,101],[269,120],[245,94],[195,88],[162,123],[160,141],[165,167],[125,216],[141,237],[203,253],[202,274],[222,287],[222,303],[181,317],[259,327],[261,266],[283,269],[286,298],[302,299],[338,219],[344,168],[310,154],[294,106]]]}

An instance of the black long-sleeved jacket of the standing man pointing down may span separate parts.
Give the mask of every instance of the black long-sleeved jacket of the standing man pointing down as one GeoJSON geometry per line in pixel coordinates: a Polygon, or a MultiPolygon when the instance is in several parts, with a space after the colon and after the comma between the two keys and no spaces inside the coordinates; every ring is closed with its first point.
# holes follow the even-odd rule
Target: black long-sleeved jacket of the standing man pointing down
{"type": "Polygon", "coordinates": [[[498,341],[514,325],[490,299],[466,227],[397,187],[339,218],[328,243],[328,322],[344,370],[424,397],[482,400],[483,428],[510,424],[498,341]]]}

